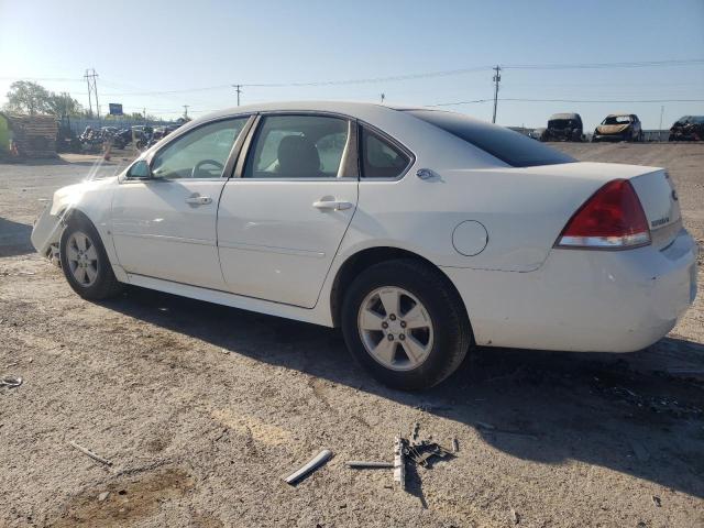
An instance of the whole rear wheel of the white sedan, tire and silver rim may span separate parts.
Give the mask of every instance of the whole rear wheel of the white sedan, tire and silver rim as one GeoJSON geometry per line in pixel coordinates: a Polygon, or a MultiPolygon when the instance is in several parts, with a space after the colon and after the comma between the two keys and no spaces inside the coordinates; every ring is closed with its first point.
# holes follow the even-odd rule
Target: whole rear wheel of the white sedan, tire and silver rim
{"type": "Polygon", "coordinates": [[[414,260],[362,272],[344,297],[342,330],[363,367],[385,385],[406,391],[446,380],[471,344],[457,292],[438,271],[414,260]]]}

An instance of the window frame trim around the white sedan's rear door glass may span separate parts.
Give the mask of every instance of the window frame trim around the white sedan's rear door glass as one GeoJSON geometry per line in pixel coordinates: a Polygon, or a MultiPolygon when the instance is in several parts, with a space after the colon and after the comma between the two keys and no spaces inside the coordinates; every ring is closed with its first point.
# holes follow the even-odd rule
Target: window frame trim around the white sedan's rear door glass
{"type": "Polygon", "coordinates": [[[232,174],[231,179],[242,179],[246,182],[359,182],[360,168],[359,168],[359,141],[356,139],[358,125],[356,120],[353,117],[345,116],[338,112],[327,112],[318,110],[267,110],[256,113],[256,119],[252,128],[249,131],[246,141],[242,147],[241,156],[238,160],[237,167],[232,174]],[[301,116],[301,117],[320,117],[320,118],[333,118],[341,119],[348,123],[348,141],[340,158],[340,167],[345,167],[345,170],[354,169],[355,176],[339,176],[340,168],[338,168],[338,176],[334,178],[245,178],[244,170],[250,156],[254,155],[255,140],[258,132],[262,130],[264,118],[275,118],[280,116],[301,116]]]}

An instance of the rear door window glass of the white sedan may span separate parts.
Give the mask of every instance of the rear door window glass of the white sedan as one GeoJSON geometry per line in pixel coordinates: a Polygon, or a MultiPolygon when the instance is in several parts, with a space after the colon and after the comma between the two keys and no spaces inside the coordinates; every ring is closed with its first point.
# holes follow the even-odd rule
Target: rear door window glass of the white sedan
{"type": "Polygon", "coordinates": [[[349,122],[328,116],[270,116],[250,148],[244,178],[337,178],[349,122]]]}

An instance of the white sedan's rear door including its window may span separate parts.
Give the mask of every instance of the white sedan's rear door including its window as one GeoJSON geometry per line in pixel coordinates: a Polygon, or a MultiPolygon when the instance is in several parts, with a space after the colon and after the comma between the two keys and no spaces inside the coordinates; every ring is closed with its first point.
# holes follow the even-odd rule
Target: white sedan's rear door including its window
{"type": "Polygon", "coordinates": [[[312,308],[358,202],[356,124],[264,114],[222,191],[220,263],[228,290],[312,308]]]}

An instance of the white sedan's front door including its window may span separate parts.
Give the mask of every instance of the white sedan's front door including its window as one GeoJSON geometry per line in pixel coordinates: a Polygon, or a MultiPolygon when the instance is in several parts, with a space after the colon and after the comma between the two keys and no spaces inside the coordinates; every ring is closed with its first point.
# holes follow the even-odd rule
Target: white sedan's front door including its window
{"type": "Polygon", "coordinates": [[[130,274],[223,289],[218,200],[249,118],[205,123],[134,165],[112,201],[112,234],[130,274]],[[237,144],[235,144],[237,142],[237,144]],[[144,163],[144,162],[143,162],[144,163]]]}

